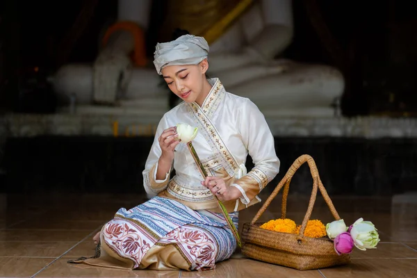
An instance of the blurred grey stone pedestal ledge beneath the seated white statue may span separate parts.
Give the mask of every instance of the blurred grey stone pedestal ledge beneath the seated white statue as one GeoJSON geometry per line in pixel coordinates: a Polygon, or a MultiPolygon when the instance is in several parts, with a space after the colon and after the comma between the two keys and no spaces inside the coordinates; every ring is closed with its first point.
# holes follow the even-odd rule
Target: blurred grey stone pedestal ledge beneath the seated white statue
{"type": "MultiPolygon", "coordinates": [[[[129,108],[83,108],[84,106],[79,106],[79,114],[10,114],[3,120],[0,117],[0,145],[6,136],[152,136],[149,131],[156,129],[163,116],[160,111],[152,109],[137,111],[129,108]]],[[[414,118],[311,118],[270,115],[265,115],[265,118],[272,134],[277,137],[417,138],[417,119],[414,118]]]]}

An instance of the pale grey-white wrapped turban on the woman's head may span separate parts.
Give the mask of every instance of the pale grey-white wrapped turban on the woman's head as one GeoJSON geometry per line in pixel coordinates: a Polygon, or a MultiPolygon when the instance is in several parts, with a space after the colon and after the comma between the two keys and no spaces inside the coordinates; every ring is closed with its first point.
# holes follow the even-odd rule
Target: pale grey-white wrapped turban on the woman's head
{"type": "Polygon", "coordinates": [[[172,42],[156,44],[154,65],[156,72],[167,65],[197,65],[208,56],[208,43],[202,37],[181,35],[172,42]]]}

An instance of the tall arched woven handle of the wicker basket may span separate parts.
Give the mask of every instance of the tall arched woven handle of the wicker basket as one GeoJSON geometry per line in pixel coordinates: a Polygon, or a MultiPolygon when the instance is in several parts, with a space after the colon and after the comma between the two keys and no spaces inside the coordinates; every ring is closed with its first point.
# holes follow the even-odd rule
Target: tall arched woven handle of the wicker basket
{"type": "Polygon", "coordinates": [[[294,161],[293,165],[291,165],[288,172],[286,172],[284,178],[281,179],[281,181],[278,183],[277,187],[272,192],[270,197],[268,197],[268,199],[265,201],[263,206],[259,209],[258,213],[256,213],[255,217],[252,219],[252,222],[250,223],[251,225],[253,225],[261,217],[262,213],[265,212],[266,208],[272,202],[272,199],[274,199],[277,196],[277,194],[279,193],[279,190],[281,190],[283,186],[285,187],[284,187],[284,193],[282,194],[281,218],[286,217],[286,201],[288,197],[288,191],[290,188],[290,182],[295,174],[295,171],[297,171],[298,168],[300,168],[300,166],[304,163],[309,164],[311,176],[313,177],[313,190],[311,191],[309,207],[307,208],[306,215],[304,216],[304,220],[302,220],[302,225],[300,228],[299,236],[302,237],[302,235],[304,235],[304,230],[306,229],[307,222],[309,222],[310,220],[311,212],[313,211],[313,206],[314,206],[314,203],[316,202],[317,188],[320,189],[320,193],[325,199],[327,206],[329,206],[329,209],[332,212],[332,215],[335,218],[335,220],[341,219],[336,211],[336,208],[334,208],[332,200],[330,199],[329,195],[327,195],[325,186],[323,186],[322,181],[320,180],[316,163],[314,162],[311,156],[309,156],[308,154],[304,154],[300,156],[299,158],[297,158],[297,160],[294,161]]]}

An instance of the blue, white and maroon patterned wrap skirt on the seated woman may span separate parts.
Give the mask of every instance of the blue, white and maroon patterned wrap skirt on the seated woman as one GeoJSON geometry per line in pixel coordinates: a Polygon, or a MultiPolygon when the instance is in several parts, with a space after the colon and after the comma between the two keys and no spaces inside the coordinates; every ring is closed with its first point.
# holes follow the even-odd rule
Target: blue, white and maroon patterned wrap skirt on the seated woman
{"type": "MultiPolygon", "coordinates": [[[[238,212],[229,213],[238,227],[238,212]]],[[[211,270],[229,259],[236,239],[224,216],[194,211],[175,200],[154,197],[120,208],[101,229],[100,254],[72,263],[123,269],[211,270]]]]}

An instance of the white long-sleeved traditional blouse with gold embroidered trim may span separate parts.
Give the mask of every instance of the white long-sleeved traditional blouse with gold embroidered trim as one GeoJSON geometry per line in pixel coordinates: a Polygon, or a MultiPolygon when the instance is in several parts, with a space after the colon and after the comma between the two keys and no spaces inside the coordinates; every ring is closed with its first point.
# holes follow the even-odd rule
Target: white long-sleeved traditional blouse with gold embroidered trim
{"type": "Polygon", "coordinates": [[[174,153],[175,175],[156,180],[158,159],[162,154],[158,138],[161,133],[178,123],[198,127],[193,146],[206,172],[222,177],[227,186],[235,186],[243,197],[224,202],[227,210],[240,211],[261,200],[257,196],[279,172],[279,158],[265,117],[250,99],[224,90],[219,79],[208,79],[213,85],[202,107],[183,102],[163,115],[143,171],[148,196],[158,195],[175,199],[192,209],[220,212],[218,203],[208,188],[191,156],[186,143],[177,145],[174,153]],[[247,155],[252,157],[254,168],[247,172],[247,155]]]}

